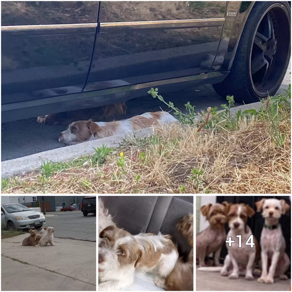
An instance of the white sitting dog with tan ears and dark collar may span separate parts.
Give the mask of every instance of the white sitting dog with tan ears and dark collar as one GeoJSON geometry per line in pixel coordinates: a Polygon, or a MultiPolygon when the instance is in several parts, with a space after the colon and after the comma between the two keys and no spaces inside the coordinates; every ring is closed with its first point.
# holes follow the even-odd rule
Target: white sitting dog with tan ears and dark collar
{"type": "Polygon", "coordinates": [[[263,211],[262,215],[265,218],[265,224],[260,236],[262,275],[258,282],[272,284],[274,277],[287,280],[288,277],[285,272],[290,266],[290,260],[285,253],[286,242],[279,219],[282,214],[285,214],[290,209],[290,206],[284,200],[277,199],[262,199],[256,202],[256,206],[258,212],[263,211]],[[268,259],[271,260],[270,267],[268,259]]]}

